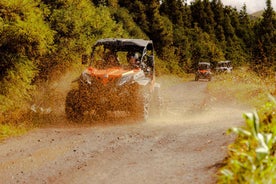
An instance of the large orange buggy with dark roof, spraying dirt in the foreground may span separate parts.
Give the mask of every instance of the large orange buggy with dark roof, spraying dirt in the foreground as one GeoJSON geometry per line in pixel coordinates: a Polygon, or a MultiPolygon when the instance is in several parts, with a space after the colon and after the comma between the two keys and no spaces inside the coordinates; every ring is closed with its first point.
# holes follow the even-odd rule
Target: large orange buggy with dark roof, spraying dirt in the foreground
{"type": "Polygon", "coordinates": [[[143,39],[106,38],[92,47],[92,55],[84,55],[89,66],[75,81],[78,87],[66,97],[65,112],[71,121],[81,121],[85,113],[96,120],[108,112],[124,111],[146,120],[149,104],[158,93],[155,83],[153,42],[143,39]]]}

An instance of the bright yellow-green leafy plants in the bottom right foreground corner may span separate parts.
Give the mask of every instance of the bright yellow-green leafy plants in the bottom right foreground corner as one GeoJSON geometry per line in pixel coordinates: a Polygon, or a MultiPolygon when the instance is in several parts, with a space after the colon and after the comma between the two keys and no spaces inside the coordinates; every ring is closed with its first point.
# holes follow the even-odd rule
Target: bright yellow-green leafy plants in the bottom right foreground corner
{"type": "Polygon", "coordinates": [[[218,183],[276,182],[276,101],[271,99],[258,113],[244,114],[245,127],[230,129],[238,137],[218,183]]]}

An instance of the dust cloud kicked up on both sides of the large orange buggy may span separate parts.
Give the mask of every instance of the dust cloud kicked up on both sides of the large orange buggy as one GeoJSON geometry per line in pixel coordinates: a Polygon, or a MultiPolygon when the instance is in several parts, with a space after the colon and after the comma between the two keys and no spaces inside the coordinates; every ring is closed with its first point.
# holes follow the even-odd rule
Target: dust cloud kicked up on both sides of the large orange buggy
{"type": "MultiPolygon", "coordinates": [[[[108,126],[137,123],[137,120],[123,112],[109,112],[107,117],[95,121],[86,116],[81,123],[69,122],[65,116],[65,99],[69,90],[74,87],[73,80],[80,74],[80,70],[68,71],[47,85],[40,87],[39,95],[34,104],[37,107],[51,109],[49,114],[37,113],[36,121],[42,126],[108,126]]],[[[157,77],[160,84],[161,108],[150,107],[149,119],[146,123],[155,125],[193,124],[198,121],[208,123],[212,121],[225,121],[233,113],[240,113],[236,104],[227,104],[216,99],[206,92],[206,81],[184,81],[176,76],[157,77]],[[219,102],[219,103],[218,103],[219,102]]],[[[227,102],[228,103],[228,102],[227,102]]],[[[143,122],[138,122],[143,123],[143,122]]]]}

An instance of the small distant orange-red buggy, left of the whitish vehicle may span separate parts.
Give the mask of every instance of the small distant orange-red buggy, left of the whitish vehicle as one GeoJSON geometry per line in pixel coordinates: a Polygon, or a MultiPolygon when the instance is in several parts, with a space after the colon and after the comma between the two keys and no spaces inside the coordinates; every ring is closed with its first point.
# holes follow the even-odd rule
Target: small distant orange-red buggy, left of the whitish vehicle
{"type": "Polygon", "coordinates": [[[198,68],[195,73],[195,81],[198,81],[199,79],[207,79],[208,81],[211,81],[212,79],[212,73],[211,73],[211,64],[208,62],[199,62],[198,68]]]}

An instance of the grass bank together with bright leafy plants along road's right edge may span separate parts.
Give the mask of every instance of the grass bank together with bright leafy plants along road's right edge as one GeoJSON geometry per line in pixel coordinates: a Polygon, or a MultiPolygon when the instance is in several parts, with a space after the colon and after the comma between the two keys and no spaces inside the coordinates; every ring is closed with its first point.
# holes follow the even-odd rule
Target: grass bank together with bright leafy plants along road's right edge
{"type": "Polygon", "coordinates": [[[256,109],[243,114],[244,126],[229,129],[237,138],[228,146],[218,183],[276,182],[275,75],[263,77],[248,70],[242,67],[231,74],[216,75],[208,85],[219,100],[235,100],[256,109]]]}

